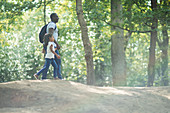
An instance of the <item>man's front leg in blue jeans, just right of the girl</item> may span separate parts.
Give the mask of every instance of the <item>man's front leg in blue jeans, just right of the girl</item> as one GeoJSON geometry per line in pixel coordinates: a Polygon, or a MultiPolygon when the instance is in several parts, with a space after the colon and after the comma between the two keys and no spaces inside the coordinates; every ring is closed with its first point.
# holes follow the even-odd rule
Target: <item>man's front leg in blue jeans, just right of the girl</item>
{"type": "MultiPolygon", "coordinates": [[[[58,50],[55,51],[58,55],[59,55],[59,52],[58,50]]],[[[59,79],[62,79],[62,76],[61,76],[61,59],[58,59],[56,56],[55,56],[55,61],[57,63],[57,76],[59,79]]]]}

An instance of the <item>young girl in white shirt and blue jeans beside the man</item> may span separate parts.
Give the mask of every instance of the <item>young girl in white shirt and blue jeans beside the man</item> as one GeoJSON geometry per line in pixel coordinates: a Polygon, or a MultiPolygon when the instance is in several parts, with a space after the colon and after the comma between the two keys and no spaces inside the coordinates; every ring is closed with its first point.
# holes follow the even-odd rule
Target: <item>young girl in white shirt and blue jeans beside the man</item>
{"type": "Polygon", "coordinates": [[[45,55],[45,65],[38,73],[34,74],[34,77],[36,79],[38,79],[38,76],[41,73],[43,73],[43,72],[47,73],[50,64],[52,64],[54,67],[54,79],[56,79],[58,66],[54,60],[54,55],[56,55],[56,57],[58,59],[60,59],[60,56],[54,52],[55,49],[54,49],[53,44],[54,44],[54,37],[52,36],[52,34],[46,34],[44,36],[44,45],[45,45],[45,47],[47,47],[47,53],[45,55]]]}

